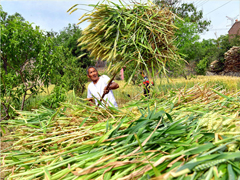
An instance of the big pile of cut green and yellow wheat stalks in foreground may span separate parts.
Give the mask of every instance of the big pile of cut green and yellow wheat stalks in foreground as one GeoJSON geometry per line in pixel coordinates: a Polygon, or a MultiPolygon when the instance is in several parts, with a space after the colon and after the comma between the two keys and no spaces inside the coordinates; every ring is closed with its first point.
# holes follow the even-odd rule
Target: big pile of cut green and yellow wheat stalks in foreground
{"type": "Polygon", "coordinates": [[[119,110],[79,102],[19,112],[1,123],[14,128],[1,169],[24,180],[237,179],[239,102],[239,93],[196,85],[119,110]]]}

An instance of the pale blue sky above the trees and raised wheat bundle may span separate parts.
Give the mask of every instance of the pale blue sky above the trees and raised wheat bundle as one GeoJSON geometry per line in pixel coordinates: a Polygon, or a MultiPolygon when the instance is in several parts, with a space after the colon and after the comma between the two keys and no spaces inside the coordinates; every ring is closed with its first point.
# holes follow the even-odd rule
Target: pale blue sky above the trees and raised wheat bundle
{"type": "MultiPolygon", "coordinates": [[[[68,24],[77,24],[78,19],[92,7],[88,4],[96,4],[99,0],[1,0],[3,11],[9,15],[20,13],[26,21],[40,26],[44,31],[59,32],[68,24]],[[67,10],[75,4],[79,9],[72,14],[67,10]]],[[[118,2],[118,0],[113,0],[118,2]]],[[[129,2],[129,0],[123,0],[129,2]]],[[[140,0],[136,0],[140,1],[140,0]]],[[[147,1],[147,0],[142,0],[147,1]]],[[[240,20],[240,0],[182,0],[182,3],[194,3],[198,10],[203,11],[203,18],[211,21],[208,32],[200,34],[202,39],[216,39],[226,35],[231,28],[230,18],[240,20]]],[[[234,20],[235,20],[234,19],[234,20]]],[[[87,22],[79,25],[86,28],[87,22]]]]}

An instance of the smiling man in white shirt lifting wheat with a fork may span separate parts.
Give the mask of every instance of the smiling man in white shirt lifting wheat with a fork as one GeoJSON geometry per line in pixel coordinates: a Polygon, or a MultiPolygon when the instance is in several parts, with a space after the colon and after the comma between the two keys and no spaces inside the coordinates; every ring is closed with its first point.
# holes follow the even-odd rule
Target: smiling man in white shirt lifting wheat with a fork
{"type": "MultiPolygon", "coordinates": [[[[99,77],[98,71],[94,66],[89,66],[87,68],[87,76],[92,80],[92,82],[88,85],[87,92],[87,98],[91,102],[90,104],[94,104],[93,96],[100,100],[103,93],[105,93],[106,95],[103,99],[107,102],[107,105],[118,107],[112,90],[119,88],[119,85],[116,82],[112,82],[107,89],[110,78],[106,75],[99,77]]],[[[96,99],[95,104],[98,104],[96,99]]]]}

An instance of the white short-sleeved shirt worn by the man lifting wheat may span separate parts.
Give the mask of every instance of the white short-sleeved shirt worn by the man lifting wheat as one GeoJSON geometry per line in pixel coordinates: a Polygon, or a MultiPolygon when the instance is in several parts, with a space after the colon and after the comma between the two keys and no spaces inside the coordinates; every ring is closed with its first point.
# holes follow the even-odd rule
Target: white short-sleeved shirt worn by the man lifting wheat
{"type": "MultiPolygon", "coordinates": [[[[108,85],[109,80],[110,80],[110,78],[108,76],[102,75],[102,76],[99,77],[99,80],[96,84],[93,84],[93,82],[91,82],[88,85],[87,98],[92,98],[94,96],[98,100],[100,100],[101,98],[99,97],[99,94],[101,96],[103,95],[104,88],[108,85]]],[[[106,94],[103,99],[108,103],[108,105],[110,105],[110,106],[113,105],[115,107],[118,107],[112,90],[110,90],[109,93],[106,94]]],[[[96,105],[98,104],[97,100],[95,100],[95,104],[96,105]]]]}

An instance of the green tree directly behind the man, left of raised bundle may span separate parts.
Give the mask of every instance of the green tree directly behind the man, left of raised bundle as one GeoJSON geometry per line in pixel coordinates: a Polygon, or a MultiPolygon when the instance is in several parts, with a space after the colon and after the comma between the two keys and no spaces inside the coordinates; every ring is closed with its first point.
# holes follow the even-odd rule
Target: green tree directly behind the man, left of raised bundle
{"type": "Polygon", "coordinates": [[[81,50],[78,46],[78,38],[81,37],[81,29],[75,24],[68,24],[60,33],[49,32],[55,36],[56,46],[63,48],[63,57],[56,68],[56,75],[52,83],[63,86],[67,90],[74,89],[80,95],[86,89],[87,82],[86,68],[93,65],[87,50],[81,50]]]}

